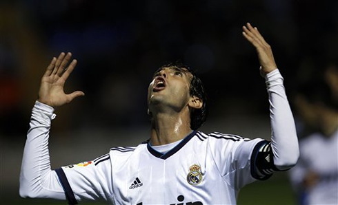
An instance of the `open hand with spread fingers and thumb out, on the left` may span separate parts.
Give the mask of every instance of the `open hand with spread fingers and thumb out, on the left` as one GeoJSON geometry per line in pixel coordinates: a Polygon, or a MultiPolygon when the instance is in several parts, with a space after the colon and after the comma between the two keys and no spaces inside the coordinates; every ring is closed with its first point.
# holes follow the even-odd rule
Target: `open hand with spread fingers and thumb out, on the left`
{"type": "Polygon", "coordinates": [[[39,89],[39,102],[52,107],[59,107],[64,105],[74,98],[84,96],[83,91],[74,91],[71,94],[65,94],[63,86],[66,83],[70,73],[77,65],[77,60],[72,60],[68,65],[72,54],[68,52],[61,53],[58,58],[53,58],[50,65],[48,65],[45,74],[41,78],[41,85],[39,89]],[[68,65],[68,67],[66,67],[68,65]]]}

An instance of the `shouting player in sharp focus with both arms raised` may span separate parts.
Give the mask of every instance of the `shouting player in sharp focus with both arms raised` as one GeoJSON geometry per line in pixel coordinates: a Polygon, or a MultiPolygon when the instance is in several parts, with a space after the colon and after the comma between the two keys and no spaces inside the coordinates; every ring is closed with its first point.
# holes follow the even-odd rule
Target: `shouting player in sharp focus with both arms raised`
{"type": "MultiPolygon", "coordinates": [[[[299,158],[295,123],[270,45],[250,23],[243,36],[256,48],[266,78],[271,142],[198,131],[206,120],[206,94],[188,67],[165,65],[148,88],[150,140],[137,147],[115,147],[95,160],[50,169],[48,137],[54,107],[83,92],[63,92],[77,61],[53,58],[41,80],[23,153],[21,197],[110,204],[236,204],[239,189],[266,180],[299,158]]],[[[268,203],[268,202],[267,202],[268,203]]]]}

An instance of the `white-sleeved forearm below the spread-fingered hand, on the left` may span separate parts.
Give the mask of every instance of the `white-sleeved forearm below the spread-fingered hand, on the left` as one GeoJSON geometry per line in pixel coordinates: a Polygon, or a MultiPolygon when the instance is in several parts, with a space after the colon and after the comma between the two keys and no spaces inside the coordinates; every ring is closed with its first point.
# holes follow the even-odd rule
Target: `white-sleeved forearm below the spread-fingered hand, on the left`
{"type": "Polygon", "coordinates": [[[65,199],[57,175],[50,167],[48,138],[54,109],[36,102],[23,151],[20,173],[21,197],[65,199]]]}

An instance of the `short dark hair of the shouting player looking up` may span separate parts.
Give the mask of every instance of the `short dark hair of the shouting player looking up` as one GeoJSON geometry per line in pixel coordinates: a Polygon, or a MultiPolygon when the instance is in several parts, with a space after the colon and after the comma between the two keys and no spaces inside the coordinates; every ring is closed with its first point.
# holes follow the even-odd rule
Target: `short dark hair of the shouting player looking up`
{"type": "Polygon", "coordinates": [[[200,98],[203,102],[203,105],[200,109],[190,110],[190,128],[192,130],[199,129],[199,127],[201,127],[203,123],[206,122],[206,117],[208,114],[208,98],[201,79],[192,69],[190,69],[190,67],[188,67],[188,65],[185,65],[179,61],[162,65],[157,70],[157,72],[165,67],[177,67],[182,69],[183,72],[183,69],[186,69],[188,72],[190,72],[190,74],[192,74],[192,78],[190,80],[190,96],[196,96],[197,98],[200,98]]]}

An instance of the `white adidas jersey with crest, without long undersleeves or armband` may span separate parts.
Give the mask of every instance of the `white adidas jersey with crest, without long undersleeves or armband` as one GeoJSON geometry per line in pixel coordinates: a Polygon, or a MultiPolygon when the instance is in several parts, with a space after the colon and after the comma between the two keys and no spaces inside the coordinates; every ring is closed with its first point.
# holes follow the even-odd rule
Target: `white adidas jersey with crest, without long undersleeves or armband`
{"type": "Polygon", "coordinates": [[[255,180],[250,161],[260,141],[193,131],[165,154],[149,143],[115,147],[63,167],[72,190],[67,194],[114,204],[236,204],[239,188],[255,180]]]}

